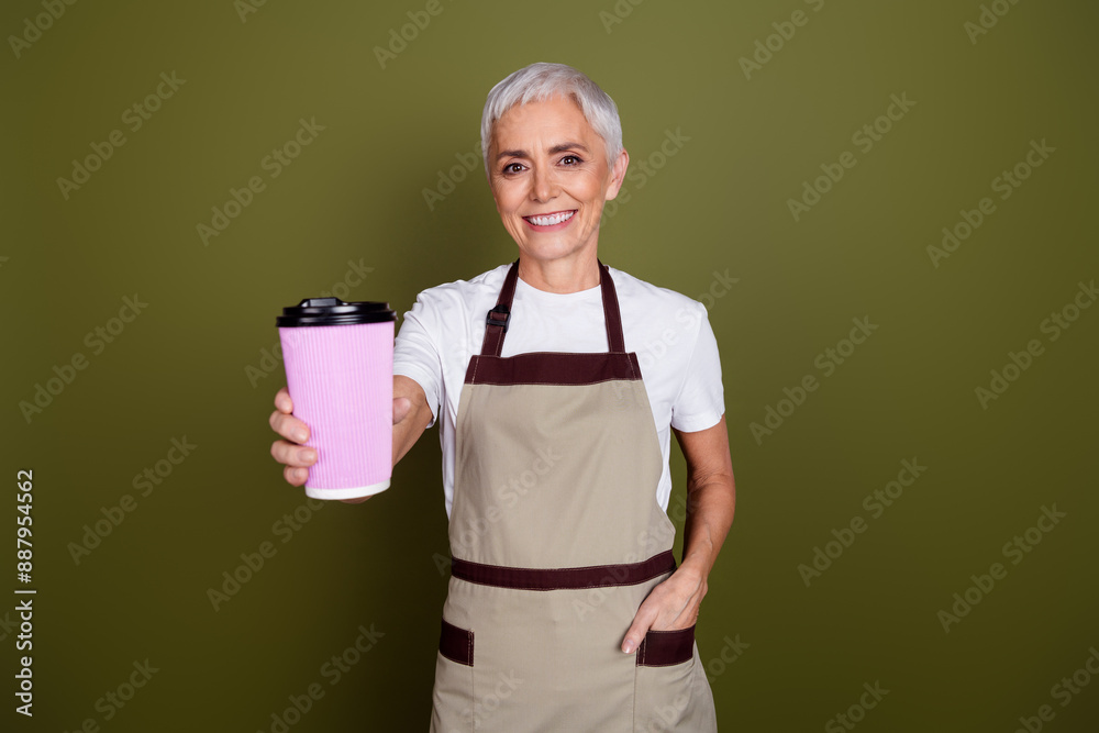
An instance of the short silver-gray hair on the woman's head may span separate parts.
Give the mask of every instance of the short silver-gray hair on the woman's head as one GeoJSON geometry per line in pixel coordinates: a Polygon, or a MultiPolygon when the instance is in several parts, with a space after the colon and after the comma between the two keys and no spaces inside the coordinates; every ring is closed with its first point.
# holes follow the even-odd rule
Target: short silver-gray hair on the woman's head
{"type": "Polygon", "coordinates": [[[486,176],[489,175],[488,155],[493,123],[517,104],[541,102],[555,96],[570,97],[576,101],[584,119],[607,145],[607,165],[614,164],[622,151],[622,122],[614,100],[582,71],[565,64],[539,62],[510,74],[488,92],[481,113],[481,152],[486,176]]]}

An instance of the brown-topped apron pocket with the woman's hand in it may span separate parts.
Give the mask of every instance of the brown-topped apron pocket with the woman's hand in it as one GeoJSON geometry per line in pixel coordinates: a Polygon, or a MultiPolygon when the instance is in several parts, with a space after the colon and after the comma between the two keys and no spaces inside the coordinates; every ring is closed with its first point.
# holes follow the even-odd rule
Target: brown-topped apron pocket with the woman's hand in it
{"type": "Polygon", "coordinates": [[[637,648],[635,733],[703,731],[695,726],[695,626],[650,631],[637,648]]]}

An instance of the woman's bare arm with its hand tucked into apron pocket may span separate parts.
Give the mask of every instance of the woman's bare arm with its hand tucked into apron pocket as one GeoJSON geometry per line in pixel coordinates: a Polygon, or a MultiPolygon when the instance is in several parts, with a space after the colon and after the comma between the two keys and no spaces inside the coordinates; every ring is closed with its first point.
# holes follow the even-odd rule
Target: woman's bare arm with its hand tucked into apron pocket
{"type": "Polygon", "coordinates": [[[698,619],[707,578],[733,524],[736,485],[729,454],[725,417],[696,433],[675,431],[687,459],[687,520],[684,559],[667,580],[653,589],[626,631],[622,651],[631,654],[651,629],[687,629],[698,619]]]}

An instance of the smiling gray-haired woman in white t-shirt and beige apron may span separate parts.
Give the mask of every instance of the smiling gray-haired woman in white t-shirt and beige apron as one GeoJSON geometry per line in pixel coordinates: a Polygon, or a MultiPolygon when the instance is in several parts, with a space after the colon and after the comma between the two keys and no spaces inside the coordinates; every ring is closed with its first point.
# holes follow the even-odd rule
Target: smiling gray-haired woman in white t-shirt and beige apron
{"type": "MultiPolygon", "coordinates": [[[[436,421],[443,448],[453,564],[431,730],[715,731],[695,623],[734,485],[706,309],[599,262],[630,156],[587,76],[510,75],[481,142],[519,257],[421,292],[393,359],[393,463],[436,421]]],[[[271,453],[300,486],[308,426],[285,389],[275,403],[271,453]]]]}

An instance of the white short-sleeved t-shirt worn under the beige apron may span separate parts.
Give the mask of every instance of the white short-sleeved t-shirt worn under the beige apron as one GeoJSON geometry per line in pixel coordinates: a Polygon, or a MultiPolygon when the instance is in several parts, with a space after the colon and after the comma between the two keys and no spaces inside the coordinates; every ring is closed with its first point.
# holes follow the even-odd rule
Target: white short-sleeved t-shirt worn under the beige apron
{"type": "MultiPolygon", "coordinates": [[[[446,515],[454,500],[454,432],[466,367],[479,354],[485,316],[496,306],[511,265],[424,290],[404,313],[393,352],[393,374],[415,380],[440,423],[446,515]],[[442,421],[440,422],[440,411],[442,421]]],[[[724,414],[721,363],[706,307],[610,268],[622,313],[625,351],[636,352],[664,456],[656,499],[667,511],[671,493],[671,427],[693,433],[724,414]]],[[[606,352],[599,286],[580,292],[537,290],[519,279],[501,356],[529,352],[606,352]]]]}

